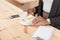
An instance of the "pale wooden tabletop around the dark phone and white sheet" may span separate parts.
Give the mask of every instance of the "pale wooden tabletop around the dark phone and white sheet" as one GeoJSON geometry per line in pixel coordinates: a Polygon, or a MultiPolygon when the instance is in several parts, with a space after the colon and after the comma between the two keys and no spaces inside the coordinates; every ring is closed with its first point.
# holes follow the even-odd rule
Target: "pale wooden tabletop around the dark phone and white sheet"
{"type": "MultiPolygon", "coordinates": [[[[29,40],[37,26],[28,26],[27,33],[19,18],[9,16],[19,14],[20,9],[5,0],[0,0],[0,40],[29,40]]],[[[51,40],[60,40],[60,31],[55,29],[51,40]]]]}

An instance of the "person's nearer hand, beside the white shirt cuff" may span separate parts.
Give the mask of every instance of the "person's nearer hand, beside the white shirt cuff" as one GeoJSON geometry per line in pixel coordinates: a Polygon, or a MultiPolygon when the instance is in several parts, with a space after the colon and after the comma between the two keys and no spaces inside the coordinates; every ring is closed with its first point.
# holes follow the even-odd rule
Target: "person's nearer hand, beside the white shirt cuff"
{"type": "Polygon", "coordinates": [[[49,22],[43,17],[39,16],[32,21],[33,25],[49,25],[49,22]]]}

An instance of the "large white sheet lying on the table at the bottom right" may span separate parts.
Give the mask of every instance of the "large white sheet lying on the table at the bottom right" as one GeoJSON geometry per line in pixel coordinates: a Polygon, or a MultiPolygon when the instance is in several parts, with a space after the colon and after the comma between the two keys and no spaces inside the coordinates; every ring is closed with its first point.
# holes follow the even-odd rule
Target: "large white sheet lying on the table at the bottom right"
{"type": "Polygon", "coordinates": [[[39,28],[36,30],[36,32],[32,35],[32,37],[40,37],[44,40],[50,40],[52,37],[52,34],[54,32],[53,27],[47,27],[47,26],[39,26],[39,28]]]}

